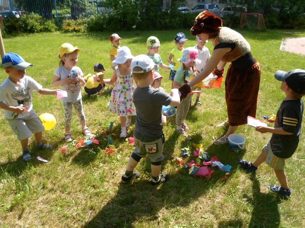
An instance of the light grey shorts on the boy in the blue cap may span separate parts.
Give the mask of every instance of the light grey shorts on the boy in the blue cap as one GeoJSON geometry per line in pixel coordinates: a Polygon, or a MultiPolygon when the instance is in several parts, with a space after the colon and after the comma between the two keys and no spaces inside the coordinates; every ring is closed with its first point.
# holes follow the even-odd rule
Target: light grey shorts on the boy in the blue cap
{"type": "Polygon", "coordinates": [[[22,119],[7,119],[9,126],[11,126],[11,129],[19,141],[30,138],[32,133],[38,133],[45,130],[45,127],[42,125],[37,114],[34,111],[31,113],[31,115],[22,119]]]}

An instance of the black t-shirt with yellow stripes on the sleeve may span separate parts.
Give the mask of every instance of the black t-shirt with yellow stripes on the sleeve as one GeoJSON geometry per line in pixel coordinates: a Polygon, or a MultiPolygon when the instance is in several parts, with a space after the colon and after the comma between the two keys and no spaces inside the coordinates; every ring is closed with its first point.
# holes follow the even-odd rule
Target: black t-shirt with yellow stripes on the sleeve
{"type": "Polygon", "coordinates": [[[283,100],[276,114],[274,127],[282,127],[284,131],[292,135],[272,134],[272,153],[280,158],[289,158],[296,151],[301,133],[303,101],[283,100]]]}

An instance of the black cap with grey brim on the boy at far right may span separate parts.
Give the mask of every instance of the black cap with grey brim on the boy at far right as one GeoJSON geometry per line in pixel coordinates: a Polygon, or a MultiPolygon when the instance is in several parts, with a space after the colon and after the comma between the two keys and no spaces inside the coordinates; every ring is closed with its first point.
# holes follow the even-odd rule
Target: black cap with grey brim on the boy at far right
{"type": "Polygon", "coordinates": [[[289,88],[298,94],[305,93],[305,71],[294,69],[292,71],[276,71],[274,74],[278,81],[285,81],[289,88]]]}

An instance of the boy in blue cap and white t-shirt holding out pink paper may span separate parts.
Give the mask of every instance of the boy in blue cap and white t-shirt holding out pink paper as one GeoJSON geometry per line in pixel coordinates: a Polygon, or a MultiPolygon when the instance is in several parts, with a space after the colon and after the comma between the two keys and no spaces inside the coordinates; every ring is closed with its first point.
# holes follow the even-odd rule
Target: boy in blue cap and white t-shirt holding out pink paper
{"type": "Polygon", "coordinates": [[[7,53],[2,58],[2,67],[9,77],[0,85],[0,108],[22,147],[22,159],[32,159],[28,147],[29,138],[34,133],[36,147],[52,149],[50,144],[41,142],[45,127],[33,110],[33,91],[41,95],[56,95],[58,90],[43,89],[33,78],[25,75],[26,68],[33,66],[16,53],[7,53]]]}

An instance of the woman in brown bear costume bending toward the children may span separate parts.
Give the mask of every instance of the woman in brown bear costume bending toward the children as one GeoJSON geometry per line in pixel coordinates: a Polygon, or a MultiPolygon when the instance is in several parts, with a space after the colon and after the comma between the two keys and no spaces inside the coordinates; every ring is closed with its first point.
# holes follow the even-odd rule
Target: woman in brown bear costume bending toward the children
{"type": "Polygon", "coordinates": [[[181,98],[211,72],[223,77],[224,66],[230,62],[225,78],[225,99],[228,108],[228,132],[215,141],[227,143],[228,136],[235,133],[239,125],[247,123],[247,116],[256,116],[257,96],[260,85],[260,65],[250,52],[250,45],[238,32],[222,27],[221,19],[209,11],[200,13],[191,29],[193,36],[210,40],[214,50],[203,71],[179,88],[181,98]]]}

